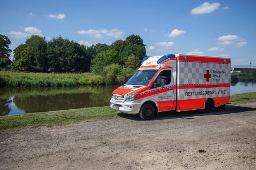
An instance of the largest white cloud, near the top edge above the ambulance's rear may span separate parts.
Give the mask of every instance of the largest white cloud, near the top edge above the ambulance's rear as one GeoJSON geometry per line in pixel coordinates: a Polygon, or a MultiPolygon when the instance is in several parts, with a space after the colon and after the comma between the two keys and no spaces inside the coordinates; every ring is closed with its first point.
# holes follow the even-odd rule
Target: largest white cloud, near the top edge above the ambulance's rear
{"type": "Polygon", "coordinates": [[[220,3],[218,3],[218,2],[216,2],[216,3],[205,2],[201,5],[199,5],[198,7],[195,7],[190,12],[193,15],[209,14],[209,13],[213,12],[214,10],[218,9],[219,7],[220,7],[220,3]]]}

